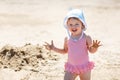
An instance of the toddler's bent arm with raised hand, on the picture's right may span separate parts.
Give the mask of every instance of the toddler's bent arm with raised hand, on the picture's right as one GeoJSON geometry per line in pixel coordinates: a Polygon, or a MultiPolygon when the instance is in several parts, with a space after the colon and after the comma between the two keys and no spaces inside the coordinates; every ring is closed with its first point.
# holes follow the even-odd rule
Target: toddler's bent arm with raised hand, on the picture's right
{"type": "Polygon", "coordinates": [[[93,40],[93,42],[92,42],[92,39],[90,36],[87,36],[86,39],[87,39],[87,47],[88,47],[89,52],[95,53],[97,51],[98,47],[101,46],[100,41],[93,40]]]}

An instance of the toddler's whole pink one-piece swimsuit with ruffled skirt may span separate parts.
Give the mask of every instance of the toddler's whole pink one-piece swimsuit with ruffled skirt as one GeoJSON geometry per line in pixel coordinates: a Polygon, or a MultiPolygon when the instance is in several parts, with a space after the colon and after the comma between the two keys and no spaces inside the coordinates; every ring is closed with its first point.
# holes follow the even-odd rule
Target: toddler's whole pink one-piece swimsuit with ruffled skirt
{"type": "Polygon", "coordinates": [[[93,69],[94,63],[89,61],[85,34],[82,38],[74,41],[68,40],[68,60],[65,71],[80,74],[93,69]]]}

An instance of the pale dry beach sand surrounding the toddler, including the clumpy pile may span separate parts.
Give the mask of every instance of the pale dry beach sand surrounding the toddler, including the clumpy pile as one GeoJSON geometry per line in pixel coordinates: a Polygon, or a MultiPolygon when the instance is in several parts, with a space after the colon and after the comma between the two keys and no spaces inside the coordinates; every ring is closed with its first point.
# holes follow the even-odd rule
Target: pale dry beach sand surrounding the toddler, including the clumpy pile
{"type": "Polygon", "coordinates": [[[43,44],[63,46],[63,19],[72,8],[84,10],[86,33],[103,44],[90,54],[92,80],[120,80],[119,0],[0,0],[0,80],[63,80],[67,54],[43,44]]]}

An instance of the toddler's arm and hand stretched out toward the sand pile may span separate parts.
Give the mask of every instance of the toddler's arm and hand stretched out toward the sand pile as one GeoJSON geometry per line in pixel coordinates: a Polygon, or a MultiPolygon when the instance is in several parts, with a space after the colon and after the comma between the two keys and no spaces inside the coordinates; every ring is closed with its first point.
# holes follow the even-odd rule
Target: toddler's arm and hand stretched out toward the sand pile
{"type": "Polygon", "coordinates": [[[64,39],[64,47],[63,49],[59,49],[57,47],[54,46],[54,43],[53,43],[53,40],[51,41],[51,44],[45,42],[46,45],[44,45],[46,47],[47,50],[53,50],[55,52],[58,52],[58,53],[62,53],[62,54],[65,54],[68,52],[68,47],[67,47],[67,37],[64,39]]]}

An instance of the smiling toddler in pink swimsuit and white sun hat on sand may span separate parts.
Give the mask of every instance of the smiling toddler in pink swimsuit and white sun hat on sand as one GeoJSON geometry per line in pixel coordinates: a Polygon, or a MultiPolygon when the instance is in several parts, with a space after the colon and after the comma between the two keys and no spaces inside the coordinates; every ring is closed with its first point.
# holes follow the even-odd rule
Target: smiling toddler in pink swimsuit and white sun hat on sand
{"type": "Polygon", "coordinates": [[[87,25],[83,12],[79,9],[68,12],[64,19],[64,26],[69,37],[65,37],[63,49],[55,47],[53,41],[51,44],[46,42],[45,47],[58,53],[68,53],[64,80],[75,80],[77,76],[80,77],[80,80],[90,80],[94,63],[89,61],[88,52],[95,53],[101,46],[100,41],[92,40],[89,35],[84,33],[87,25]]]}

